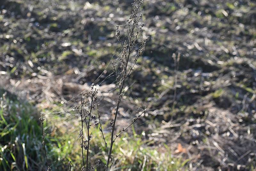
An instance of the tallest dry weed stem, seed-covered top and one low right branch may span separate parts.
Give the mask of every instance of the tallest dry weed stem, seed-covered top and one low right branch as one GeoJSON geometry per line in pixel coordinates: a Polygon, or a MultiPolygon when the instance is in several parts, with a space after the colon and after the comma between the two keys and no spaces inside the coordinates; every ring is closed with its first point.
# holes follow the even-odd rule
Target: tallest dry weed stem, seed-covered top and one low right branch
{"type": "MultiPolygon", "coordinates": [[[[149,39],[149,37],[147,37],[145,40],[142,40],[140,42],[140,43],[142,43],[142,45],[139,47],[138,53],[136,53],[134,55],[133,60],[131,60],[130,57],[132,56],[131,54],[132,54],[133,48],[135,46],[135,42],[137,41],[138,35],[141,32],[142,27],[144,26],[144,24],[141,24],[139,26],[139,21],[142,18],[142,14],[140,14],[140,16],[137,16],[138,11],[139,11],[139,9],[141,7],[141,4],[143,2],[144,2],[144,0],[134,0],[134,3],[132,3],[132,6],[133,6],[132,14],[130,15],[130,18],[126,20],[127,25],[129,27],[129,29],[128,29],[128,40],[125,40],[124,43],[122,43],[122,40],[120,39],[120,31],[118,30],[119,26],[116,26],[116,37],[117,37],[117,40],[120,41],[120,43],[121,43],[123,52],[120,55],[118,55],[118,59],[120,60],[119,63],[112,61],[113,73],[115,73],[115,75],[116,75],[116,82],[117,82],[118,87],[119,87],[119,96],[118,96],[118,100],[117,100],[114,121],[110,122],[111,123],[112,132],[111,132],[111,141],[110,141],[108,160],[107,160],[107,164],[106,164],[106,170],[109,170],[110,167],[111,167],[111,165],[110,165],[110,167],[108,167],[108,166],[109,166],[110,159],[112,161],[112,157],[113,157],[111,155],[111,153],[112,153],[113,144],[114,144],[115,139],[116,139],[116,138],[114,139],[115,124],[116,124],[116,118],[117,118],[117,115],[118,115],[119,105],[120,105],[120,102],[121,102],[122,97],[124,95],[124,90],[123,89],[125,87],[125,81],[129,77],[131,71],[133,70],[133,67],[136,64],[139,55],[144,51],[145,44],[146,44],[146,42],[149,39]],[[127,52],[127,50],[128,50],[128,52],[127,52]],[[130,68],[128,69],[127,68],[128,67],[128,63],[132,62],[132,61],[133,61],[133,65],[129,66],[130,68]],[[121,70],[119,70],[119,68],[121,70]],[[118,71],[119,71],[119,73],[118,73],[118,71]]],[[[138,118],[139,118],[139,116],[138,116],[138,118]]],[[[132,124],[138,118],[133,120],[132,124]]],[[[123,129],[123,131],[124,131],[124,129],[123,129]]],[[[118,135],[116,135],[116,137],[118,137],[118,135]]]]}

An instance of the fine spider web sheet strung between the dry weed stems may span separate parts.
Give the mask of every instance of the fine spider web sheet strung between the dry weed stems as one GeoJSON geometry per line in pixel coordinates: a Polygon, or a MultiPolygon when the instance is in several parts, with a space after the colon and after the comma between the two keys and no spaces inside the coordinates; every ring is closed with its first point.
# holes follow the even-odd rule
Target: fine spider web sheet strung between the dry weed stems
{"type": "MultiPolygon", "coordinates": [[[[128,26],[122,25],[119,26],[119,29],[121,35],[125,35],[127,34],[128,26]]],[[[127,40],[128,37],[121,37],[121,41],[123,41],[124,39],[127,40]]],[[[132,55],[138,53],[138,49],[141,46],[142,40],[143,36],[141,36],[140,39],[138,39],[138,43],[136,43],[134,48],[132,49],[132,55]]],[[[113,56],[111,57],[111,61],[118,63],[120,61],[117,58],[117,56],[122,53],[122,48],[119,41],[117,41],[116,44],[117,45],[113,53],[113,56]]],[[[134,62],[131,60],[128,65],[133,64],[134,62]]],[[[76,167],[76,169],[81,169],[81,165],[74,166],[75,160],[80,161],[76,161],[76,163],[82,163],[79,137],[79,133],[81,130],[81,117],[79,110],[81,110],[81,99],[83,101],[85,97],[88,97],[88,101],[84,104],[84,106],[86,107],[85,110],[90,109],[91,98],[89,92],[91,91],[90,88],[92,87],[92,85],[94,85],[93,89],[96,88],[99,91],[99,93],[97,94],[97,102],[99,104],[99,111],[101,115],[100,119],[104,127],[103,132],[106,134],[110,134],[111,128],[109,122],[113,120],[113,114],[116,110],[119,86],[116,82],[116,75],[114,74],[114,72],[111,72],[108,75],[105,75],[104,73],[106,73],[105,71],[107,70],[111,71],[112,67],[113,66],[111,65],[111,62],[109,62],[109,64],[106,66],[105,70],[100,74],[100,76],[93,82],[93,84],[88,86],[88,89],[85,89],[81,93],[78,93],[72,99],[69,99],[67,103],[64,103],[63,105],[52,110],[51,112],[43,113],[45,119],[44,130],[46,133],[46,153],[49,165],[52,169],[54,169],[55,167],[60,167],[57,166],[59,163],[61,163],[59,161],[66,163],[67,166],[68,161],[71,161],[71,164],[73,163],[73,167],[76,167]],[[104,79],[100,79],[102,77],[104,79]],[[109,84],[109,82],[111,82],[111,84],[109,84]]],[[[136,95],[132,94],[133,83],[134,82],[132,82],[130,78],[127,79],[124,88],[124,96],[126,99],[123,99],[121,101],[121,110],[119,110],[120,118],[118,119],[120,122],[126,122],[127,126],[130,123],[132,123],[132,118],[136,117],[138,114],[140,114],[141,111],[145,109],[145,105],[143,105],[142,102],[139,102],[139,105],[132,103],[132,99],[136,98],[136,95]]],[[[96,120],[98,121],[96,109],[92,110],[92,115],[95,115],[96,120]]],[[[99,129],[98,126],[93,125],[96,122],[96,120],[93,119],[91,125],[92,127],[99,129]]],[[[87,130],[85,125],[83,130],[85,139],[87,139],[87,130]]],[[[116,130],[116,134],[118,134],[120,131],[121,130],[116,130]]],[[[92,136],[94,135],[92,134],[92,136]]],[[[108,144],[110,144],[110,139],[107,138],[106,140],[108,141],[108,144]]],[[[103,139],[101,139],[100,142],[102,143],[103,139]]],[[[93,155],[100,152],[100,150],[97,149],[98,145],[99,144],[94,143],[91,144],[90,146],[90,157],[92,156],[90,160],[92,161],[94,160],[93,155]]],[[[86,153],[86,150],[84,150],[84,153],[86,153]]]]}

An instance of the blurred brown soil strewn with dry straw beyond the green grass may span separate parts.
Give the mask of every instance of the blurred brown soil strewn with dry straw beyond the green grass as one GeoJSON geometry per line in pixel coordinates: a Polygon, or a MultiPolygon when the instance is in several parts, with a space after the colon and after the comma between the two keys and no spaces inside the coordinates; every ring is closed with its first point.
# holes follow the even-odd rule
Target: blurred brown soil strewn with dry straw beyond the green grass
{"type": "MultiPolygon", "coordinates": [[[[103,81],[131,2],[1,1],[1,86],[42,109],[103,81]]],[[[255,168],[255,1],[148,0],[142,12],[151,40],[127,99],[148,106],[138,123],[145,138],[190,159],[190,169],[255,168]]],[[[124,117],[136,111],[123,108],[124,117]]]]}

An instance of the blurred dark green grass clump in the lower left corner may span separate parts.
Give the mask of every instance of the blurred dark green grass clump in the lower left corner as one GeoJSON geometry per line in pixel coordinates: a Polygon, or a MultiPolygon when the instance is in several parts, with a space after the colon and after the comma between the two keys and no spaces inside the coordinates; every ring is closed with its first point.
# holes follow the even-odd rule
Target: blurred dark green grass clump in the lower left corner
{"type": "Polygon", "coordinates": [[[0,92],[0,170],[41,170],[44,156],[36,110],[0,92]]]}

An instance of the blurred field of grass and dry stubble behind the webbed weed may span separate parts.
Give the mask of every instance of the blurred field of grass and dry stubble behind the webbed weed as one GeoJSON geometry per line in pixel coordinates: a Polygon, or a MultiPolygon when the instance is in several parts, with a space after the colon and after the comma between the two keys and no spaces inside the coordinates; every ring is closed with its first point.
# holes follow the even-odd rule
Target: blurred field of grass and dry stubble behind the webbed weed
{"type": "MultiPolygon", "coordinates": [[[[80,148],[72,140],[79,127],[71,115],[51,119],[51,111],[70,107],[93,82],[106,94],[104,110],[115,103],[107,66],[118,50],[116,25],[125,23],[131,3],[0,2],[0,170],[46,169],[40,112],[56,132],[46,136],[52,169],[67,169],[71,160],[78,170],[80,148]]],[[[255,1],[146,0],[142,13],[142,38],[150,41],[117,124],[130,123],[137,106],[147,112],[117,142],[113,169],[255,169],[255,1]]],[[[104,117],[108,130],[112,111],[104,117]]],[[[106,153],[95,132],[96,161],[106,153]]]]}

